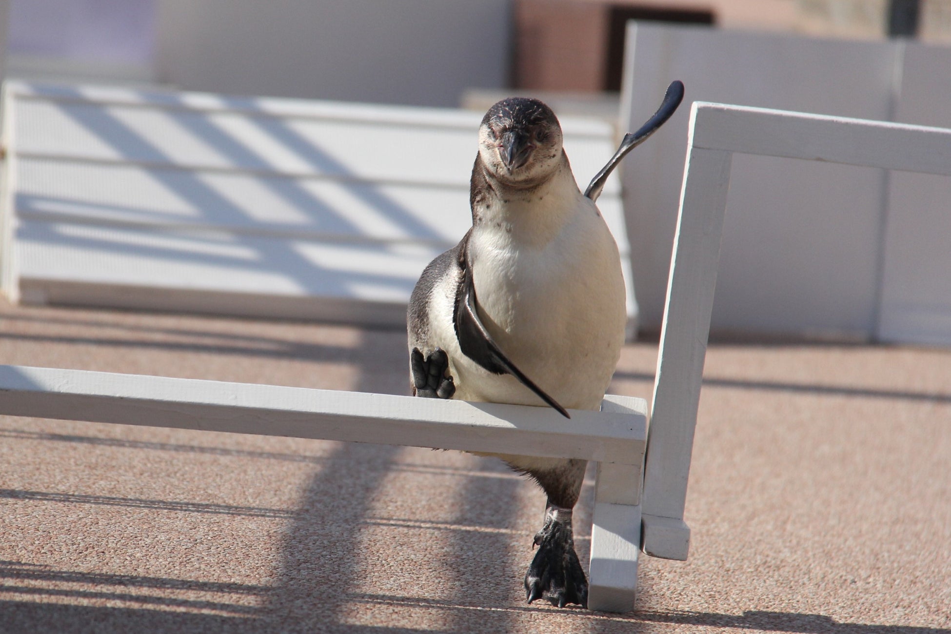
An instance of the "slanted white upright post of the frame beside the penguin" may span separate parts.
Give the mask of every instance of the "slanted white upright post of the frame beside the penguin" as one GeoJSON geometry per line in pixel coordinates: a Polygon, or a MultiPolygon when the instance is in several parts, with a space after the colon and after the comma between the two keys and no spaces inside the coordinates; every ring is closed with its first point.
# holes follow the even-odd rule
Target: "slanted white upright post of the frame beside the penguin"
{"type": "Polygon", "coordinates": [[[649,555],[679,560],[689,549],[684,505],[732,157],[694,148],[694,124],[654,378],[642,537],[649,555]]]}

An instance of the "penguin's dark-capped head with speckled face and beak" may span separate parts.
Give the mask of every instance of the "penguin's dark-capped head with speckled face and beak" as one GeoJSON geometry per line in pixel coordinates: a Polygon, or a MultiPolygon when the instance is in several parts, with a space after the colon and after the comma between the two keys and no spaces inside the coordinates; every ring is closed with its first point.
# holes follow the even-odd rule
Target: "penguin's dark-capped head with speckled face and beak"
{"type": "Polygon", "coordinates": [[[561,125],[537,99],[510,97],[489,108],[478,140],[482,163],[502,183],[539,183],[561,163],[561,125]]]}

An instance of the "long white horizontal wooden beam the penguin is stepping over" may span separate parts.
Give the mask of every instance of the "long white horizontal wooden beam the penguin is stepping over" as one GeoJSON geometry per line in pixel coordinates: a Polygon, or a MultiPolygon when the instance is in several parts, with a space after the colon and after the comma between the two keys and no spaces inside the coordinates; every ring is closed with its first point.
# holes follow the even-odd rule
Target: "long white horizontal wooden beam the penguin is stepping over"
{"type": "MultiPolygon", "coordinates": [[[[646,408],[646,405],[645,405],[646,408]]],[[[639,464],[643,417],[0,366],[0,414],[639,464]]]]}

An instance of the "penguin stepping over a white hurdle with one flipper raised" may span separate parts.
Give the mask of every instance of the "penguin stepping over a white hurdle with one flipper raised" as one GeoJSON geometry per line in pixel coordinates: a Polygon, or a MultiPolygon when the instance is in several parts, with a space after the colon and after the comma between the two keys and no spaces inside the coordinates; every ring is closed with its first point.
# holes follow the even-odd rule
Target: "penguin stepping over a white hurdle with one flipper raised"
{"type": "MultiPolygon", "coordinates": [[[[627,302],[617,245],[595,201],[611,170],[682,99],[674,82],[583,194],[549,106],[514,97],[489,108],[470,183],[472,227],[423,270],[407,309],[414,395],[549,406],[567,417],[600,409],[627,302]]],[[[493,455],[548,498],[524,579],[528,603],[587,606],[572,528],[586,461],[493,455]]]]}

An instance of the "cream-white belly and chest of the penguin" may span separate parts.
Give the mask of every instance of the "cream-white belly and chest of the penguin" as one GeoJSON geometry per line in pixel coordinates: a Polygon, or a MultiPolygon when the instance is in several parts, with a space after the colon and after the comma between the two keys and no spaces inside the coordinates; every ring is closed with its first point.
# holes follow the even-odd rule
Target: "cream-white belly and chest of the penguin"
{"type": "MultiPolygon", "coordinates": [[[[593,204],[540,247],[487,231],[470,248],[479,317],[502,352],[562,406],[596,410],[620,356],[627,312],[617,247],[593,204]]],[[[542,404],[514,376],[455,360],[457,398],[542,404]]]]}

